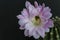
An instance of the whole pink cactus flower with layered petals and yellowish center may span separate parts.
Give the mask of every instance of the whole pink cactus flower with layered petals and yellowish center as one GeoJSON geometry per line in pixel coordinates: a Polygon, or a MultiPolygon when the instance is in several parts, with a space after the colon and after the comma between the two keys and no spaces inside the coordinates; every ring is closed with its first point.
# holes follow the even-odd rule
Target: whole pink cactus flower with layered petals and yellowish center
{"type": "Polygon", "coordinates": [[[34,6],[26,1],[26,8],[21,11],[20,15],[17,15],[20,25],[19,29],[24,30],[25,36],[33,36],[38,39],[40,36],[45,37],[45,32],[49,32],[49,28],[54,26],[51,9],[45,7],[45,4],[38,5],[35,1],[34,6]]]}

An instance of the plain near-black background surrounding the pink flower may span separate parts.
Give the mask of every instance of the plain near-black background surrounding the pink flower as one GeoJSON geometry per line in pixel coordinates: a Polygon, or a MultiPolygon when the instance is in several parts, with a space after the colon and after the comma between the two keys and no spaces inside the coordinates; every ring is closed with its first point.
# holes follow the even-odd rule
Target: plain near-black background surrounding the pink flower
{"type": "MultiPolygon", "coordinates": [[[[32,4],[35,0],[28,0],[32,4]]],[[[36,0],[52,9],[54,16],[60,16],[60,0],[36,0]]],[[[24,36],[19,30],[16,16],[25,8],[26,0],[0,0],[0,40],[35,40],[24,36]]]]}

